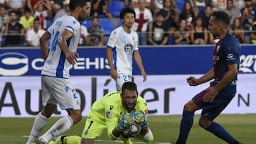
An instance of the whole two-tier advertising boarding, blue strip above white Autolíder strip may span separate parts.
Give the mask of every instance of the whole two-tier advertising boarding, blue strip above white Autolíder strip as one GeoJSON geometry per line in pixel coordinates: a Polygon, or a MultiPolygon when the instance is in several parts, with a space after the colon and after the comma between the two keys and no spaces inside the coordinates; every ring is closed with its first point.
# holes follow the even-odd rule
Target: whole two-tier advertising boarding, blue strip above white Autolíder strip
{"type": "MultiPolygon", "coordinates": [[[[105,48],[79,48],[78,65],[70,71],[70,79],[80,95],[83,116],[92,103],[115,89],[105,57],[105,48]]],[[[139,93],[149,105],[150,115],[181,114],[183,104],[208,87],[203,84],[189,87],[189,74],[200,77],[212,67],[213,46],[140,48],[146,82],[134,65],[134,79],[139,93]]],[[[238,93],[223,113],[256,113],[256,48],[242,45],[238,93]]],[[[36,116],[41,107],[40,49],[0,49],[0,116],[36,116]]],[[[198,111],[200,113],[200,111],[198,111]]],[[[65,116],[65,111],[55,112],[65,116]]]]}

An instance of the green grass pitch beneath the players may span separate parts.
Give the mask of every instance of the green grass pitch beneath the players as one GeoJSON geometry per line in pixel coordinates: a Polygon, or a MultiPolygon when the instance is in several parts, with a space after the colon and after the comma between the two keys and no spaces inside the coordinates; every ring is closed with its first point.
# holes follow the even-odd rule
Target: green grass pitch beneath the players
{"type": "MultiPolygon", "coordinates": [[[[194,118],[194,124],[188,136],[188,144],[224,144],[223,140],[198,126],[198,118],[199,116],[194,118]]],[[[154,143],[170,143],[176,140],[181,116],[148,116],[148,119],[149,126],[154,133],[154,143]]],[[[33,120],[34,118],[0,118],[0,143],[26,143],[33,120]]],[[[57,120],[58,117],[50,118],[43,132],[57,120]]],[[[227,131],[243,143],[256,143],[256,114],[220,115],[215,121],[223,125],[227,131]]],[[[81,135],[84,124],[85,118],[82,118],[80,123],[63,135],[81,135]]],[[[141,143],[139,140],[133,141],[134,143],[141,143]]],[[[115,142],[118,143],[119,140],[115,142]]],[[[109,144],[114,142],[108,140],[106,131],[104,131],[102,136],[97,139],[97,143],[109,144]]]]}

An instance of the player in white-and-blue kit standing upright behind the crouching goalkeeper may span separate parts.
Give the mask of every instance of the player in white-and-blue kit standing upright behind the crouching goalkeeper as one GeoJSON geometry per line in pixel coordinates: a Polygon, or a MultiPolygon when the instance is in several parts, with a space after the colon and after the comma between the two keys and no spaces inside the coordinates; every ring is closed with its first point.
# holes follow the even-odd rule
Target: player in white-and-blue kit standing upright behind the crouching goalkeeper
{"type": "Polygon", "coordinates": [[[123,25],[112,31],[106,50],[110,75],[116,81],[118,91],[124,82],[132,82],[133,57],[142,72],[143,82],[146,81],[146,72],[139,54],[138,35],[131,30],[135,21],[135,11],[128,7],[124,8],[119,17],[123,25]]]}

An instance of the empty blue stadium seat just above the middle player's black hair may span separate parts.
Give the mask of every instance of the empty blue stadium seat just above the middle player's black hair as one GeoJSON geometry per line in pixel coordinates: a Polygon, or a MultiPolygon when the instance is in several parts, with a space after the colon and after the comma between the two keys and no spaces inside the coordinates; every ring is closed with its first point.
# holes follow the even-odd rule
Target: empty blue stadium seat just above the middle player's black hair
{"type": "Polygon", "coordinates": [[[111,1],[109,6],[109,11],[113,18],[119,18],[119,13],[121,9],[124,8],[124,1],[111,1]]]}

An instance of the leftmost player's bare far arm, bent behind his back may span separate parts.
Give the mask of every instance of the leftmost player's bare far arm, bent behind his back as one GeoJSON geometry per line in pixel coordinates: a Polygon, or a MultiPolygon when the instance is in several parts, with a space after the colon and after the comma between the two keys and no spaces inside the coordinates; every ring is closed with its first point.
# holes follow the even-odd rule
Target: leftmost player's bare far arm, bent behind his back
{"type": "Polygon", "coordinates": [[[40,38],[40,47],[41,47],[41,52],[43,55],[43,60],[46,61],[48,57],[48,40],[50,39],[50,33],[46,32],[44,33],[41,38],[40,38]]]}

